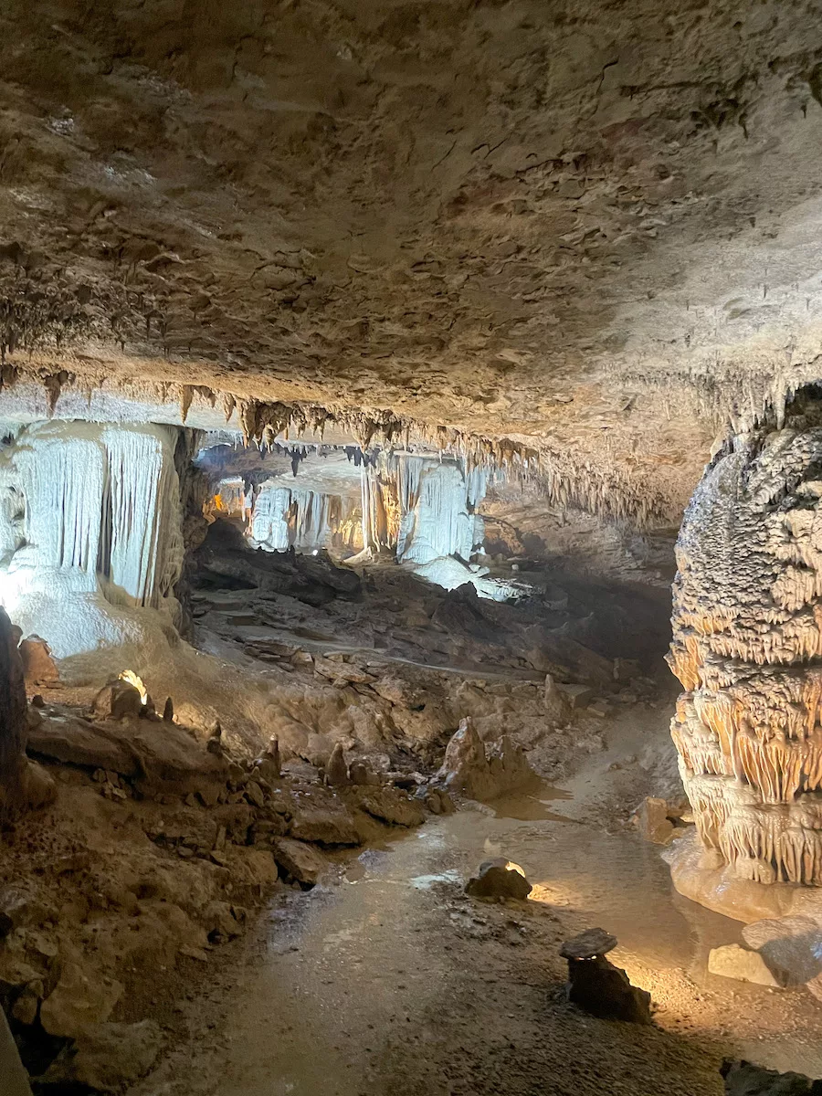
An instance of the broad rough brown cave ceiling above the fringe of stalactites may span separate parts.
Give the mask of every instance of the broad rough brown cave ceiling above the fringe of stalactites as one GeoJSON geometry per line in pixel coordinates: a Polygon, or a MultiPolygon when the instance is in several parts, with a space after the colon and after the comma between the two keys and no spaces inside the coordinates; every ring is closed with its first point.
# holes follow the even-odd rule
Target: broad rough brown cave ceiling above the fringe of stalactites
{"type": "Polygon", "coordinates": [[[5,0],[7,362],[390,409],[676,513],[819,375],[822,30],[724,0],[5,0]]]}

